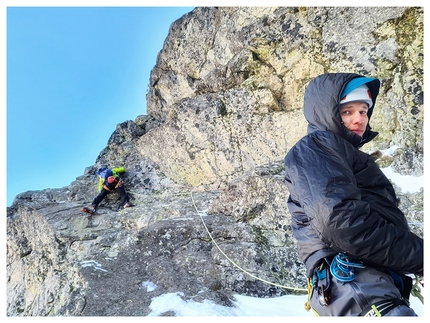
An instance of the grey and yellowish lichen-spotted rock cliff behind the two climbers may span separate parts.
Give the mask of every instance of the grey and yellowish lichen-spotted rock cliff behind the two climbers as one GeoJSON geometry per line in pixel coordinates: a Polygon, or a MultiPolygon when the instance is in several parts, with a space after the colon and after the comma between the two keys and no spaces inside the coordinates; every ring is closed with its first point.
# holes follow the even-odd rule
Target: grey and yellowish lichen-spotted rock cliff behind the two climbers
{"type": "MultiPolygon", "coordinates": [[[[175,21],[147,115],[120,121],[69,186],[19,194],[7,209],[7,315],[144,316],[169,292],[224,305],[235,293],[303,292],[282,159],[306,132],[306,85],[324,72],[380,78],[380,135],[363,150],[422,175],[423,17],[418,7],[203,7],[175,21]],[[126,168],[135,207],[112,194],[96,215],[80,211],[101,165],[126,168]]],[[[423,236],[423,190],[396,189],[423,236]]]]}

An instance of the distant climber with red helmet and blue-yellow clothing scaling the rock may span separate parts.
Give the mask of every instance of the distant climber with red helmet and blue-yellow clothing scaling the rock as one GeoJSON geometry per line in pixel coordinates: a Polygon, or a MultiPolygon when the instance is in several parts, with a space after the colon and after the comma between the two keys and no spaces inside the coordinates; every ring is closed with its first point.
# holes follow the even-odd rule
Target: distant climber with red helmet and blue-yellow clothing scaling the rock
{"type": "Polygon", "coordinates": [[[128,197],[125,188],[124,181],[119,177],[119,174],[124,173],[125,169],[123,167],[108,168],[106,166],[100,167],[95,176],[99,177],[99,194],[94,198],[91,203],[91,207],[82,208],[83,212],[89,214],[94,214],[96,212],[97,206],[110,192],[117,191],[121,198],[124,208],[131,206],[130,198],[128,197]]]}

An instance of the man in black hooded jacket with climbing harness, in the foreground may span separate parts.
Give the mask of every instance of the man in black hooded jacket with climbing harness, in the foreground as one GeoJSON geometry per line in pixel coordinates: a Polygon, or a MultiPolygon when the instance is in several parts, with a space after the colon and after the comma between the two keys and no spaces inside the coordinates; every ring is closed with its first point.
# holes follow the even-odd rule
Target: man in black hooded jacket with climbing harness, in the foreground
{"type": "Polygon", "coordinates": [[[285,157],[288,208],[317,315],[415,316],[411,275],[423,275],[423,239],[410,231],[393,186],[359,148],[380,81],[323,74],[305,91],[308,134],[285,157]]]}

